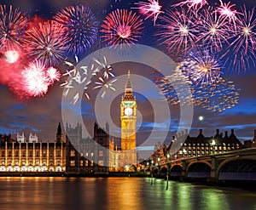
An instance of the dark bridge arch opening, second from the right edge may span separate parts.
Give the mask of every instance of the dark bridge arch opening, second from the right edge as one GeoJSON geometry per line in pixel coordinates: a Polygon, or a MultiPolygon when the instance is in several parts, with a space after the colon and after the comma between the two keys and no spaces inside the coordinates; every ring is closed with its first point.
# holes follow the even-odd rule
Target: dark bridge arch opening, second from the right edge
{"type": "Polygon", "coordinates": [[[187,178],[210,178],[211,167],[209,162],[191,162],[186,170],[187,178]]]}

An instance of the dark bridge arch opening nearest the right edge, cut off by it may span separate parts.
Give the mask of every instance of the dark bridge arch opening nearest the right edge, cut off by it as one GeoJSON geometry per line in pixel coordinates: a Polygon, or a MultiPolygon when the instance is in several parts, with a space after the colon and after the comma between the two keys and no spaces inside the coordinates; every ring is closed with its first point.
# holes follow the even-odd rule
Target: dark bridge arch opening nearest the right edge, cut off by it
{"type": "Polygon", "coordinates": [[[218,180],[256,180],[256,160],[233,158],[218,166],[218,180]]]}

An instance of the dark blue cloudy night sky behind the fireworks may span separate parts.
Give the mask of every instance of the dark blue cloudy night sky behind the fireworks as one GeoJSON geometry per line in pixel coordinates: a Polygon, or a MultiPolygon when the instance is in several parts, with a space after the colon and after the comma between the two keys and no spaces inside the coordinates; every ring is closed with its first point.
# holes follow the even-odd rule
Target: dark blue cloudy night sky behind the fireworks
{"type": "MultiPolygon", "coordinates": [[[[77,5],[83,3],[90,7],[99,21],[102,21],[104,17],[113,9],[133,8],[138,1],[70,1],[70,0],[8,0],[0,1],[1,4],[13,5],[14,8],[20,8],[21,11],[27,12],[33,16],[37,14],[44,19],[50,19],[57,11],[63,7],[69,5],[77,5]]],[[[177,1],[159,1],[167,7],[170,2],[177,1]]],[[[216,1],[217,2],[217,1],[216,1]]],[[[255,5],[255,1],[238,1],[233,0],[232,3],[236,3],[237,8],[242,4],[246,4],[248,9],[251,9],[255,5]]],[[[137,9],[132,9],[137,11],[137,9]]],[[[255,18],[255,15],[254,15],[255,18]]],[[[101,22],[102,24],[102,22],[101,22]]],[[[154,37],[154,26],[151,20],[145,20],[145,29],[143,31],[143,39],[140,43],[156,47],[157,42],[154,37]]],[[[255,31],[254,31],[255,32],[255,31]]],[[[102,46],[103,47],[103,46],[102,46]]],[[[99,48],[98,46],[96,48],[99,48]]],[[[72,60],[73,58],[69,58],[72,60]]],[[[82,60],[82,55],[79,60],[82,60]]],[[[63,65],[60,65],[60,70],[64,72],[63,65]]],[[[138,65],[134,63],[119,63],[113,65],[113,72],[116,76],[126,74],[130,69],[133,73],[140,75],[149,75],[152,78],[154,69],[148,66],[138,65]]],[[[240,99],[238,105],[223,111],[221,113],[211,112],[201,107],[194,107],[194,118],[192,127],[190,129],[190,136],[196,136],[199,129],[203,129],[205,136],[213,136],[215,130],[220,129],[221,133],[235,129],[235,134],[240,140],[253,139],[253,130],[256,129],[256,67],[248,68],[246,71],[229,71],[224,70],[224,78],[233,81],[237,89],[240,89],[240,99]],[[198,117],[204,116],[203,121],[199,121],[198,117]]],[[[132,82],[132,81],[131,81],[132,82]]],[[[58,122],[61,122],[61,97],[63,88],[60,88],[61,82],[55,82],[54,86],[49,88],[48,94],[40,98],[32,99],[17,99],[6,85],[0,85],[0,133],[12,133],[14,136],[17,132],[25,131],[26,138],[30,131],[34,131],[38,134],[40,140],[55,140],[55,132],[58,122]]],[[[125,84],[123,86],[125,88],[125,84]]],[[[136,92],[136,90],[135,90],[136,92]]],[[[93,93],[92,93],[93,94],[93,93]]],[[[152,116],[152,107],[148,100],[141,94],[137,95],[138,110],[143,115],[143,123],[138,131],[137,139],[143,139],[148,136],[154,122],[152,116]]],[[[152,95],[152,98],[155,96],[152,95]]],[[[121,94],[113,100],[111,105],[111,115],[113,122],[119,126],[119,102],[121,94]]],[[[160,99],[156,97],[155,99],[160,99]]],[[[92,122],[95,121],[95,116],[91,110],[92,102],[83,101],[84,113],[83,118],[86,124],[88,124],[88,130],[92,131],[92,122]],[[89,123],[91,122],[91,123],[89,123]],[[90,125],[89,125],[90,124],[90,125]]],[[[172,135],[177,132],[178,123],[178,107],[173,106],[170,108],[172,112],[172,122],[170,127],[170,133],[168,134],[167,141],[170,141],[172,135]]],[[[65,123],[65,122],[63,122],[65,123]]],[[[161,125],[159,125],[162,128],[161,125]]],[[[118,133],[118,131],[117,131],[118,133]]],[[[156,140],[157,142],[157,140],[156,140]]]]}

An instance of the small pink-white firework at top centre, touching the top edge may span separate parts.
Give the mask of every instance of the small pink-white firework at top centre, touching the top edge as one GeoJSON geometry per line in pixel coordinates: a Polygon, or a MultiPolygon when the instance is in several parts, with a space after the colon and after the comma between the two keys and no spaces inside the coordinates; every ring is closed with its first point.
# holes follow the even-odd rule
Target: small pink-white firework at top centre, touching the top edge
{"type": "Polygon", "coordinates": [[[161,11],[162,6],[160,6],[158,0],[148,0],[147,3],[144,2],[139,2],[139,3],[135,3],[137,5],[139,5],[138,9],[145,15],[147,15],[146,19],[154,17],[153,21],[154,21],[154,26],[155,26],[155,21],[158,18],[158,15],[163,13],[161,11]]]}

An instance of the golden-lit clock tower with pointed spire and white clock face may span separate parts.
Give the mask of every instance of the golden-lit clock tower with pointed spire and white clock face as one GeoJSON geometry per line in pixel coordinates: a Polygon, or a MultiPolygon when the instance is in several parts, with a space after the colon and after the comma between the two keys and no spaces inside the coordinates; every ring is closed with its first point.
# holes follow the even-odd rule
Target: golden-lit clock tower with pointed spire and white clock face
{"type": "Polygon", "coordinates": [[[121,162],[123,166],[137,164],[136,152],[136,116],[137,104],[132,93],[130,71],[125,85],[125,95],[120,104],[121,117],[121,162]]]}

